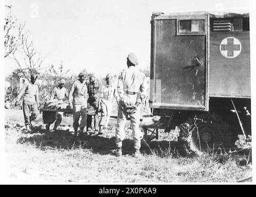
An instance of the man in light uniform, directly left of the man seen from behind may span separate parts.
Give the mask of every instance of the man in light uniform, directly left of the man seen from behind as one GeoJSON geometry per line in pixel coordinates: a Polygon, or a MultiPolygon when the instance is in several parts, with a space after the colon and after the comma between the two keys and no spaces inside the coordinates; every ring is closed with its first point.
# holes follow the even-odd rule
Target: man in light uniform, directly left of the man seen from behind
{"type": "Polygon", "coordinates": [[[101,112],[101,119],[99,121],[99,134],[102,134],[102,129],[107,128],[110,119],[110,113],[112,111],[112,100],[118,100],[117,90],[113,84],[113,76],[112,74],[107,74],[105,77],[105,81],[107,86],[102,86],[101,94],[100,94],[100,112],[101,112]]]}

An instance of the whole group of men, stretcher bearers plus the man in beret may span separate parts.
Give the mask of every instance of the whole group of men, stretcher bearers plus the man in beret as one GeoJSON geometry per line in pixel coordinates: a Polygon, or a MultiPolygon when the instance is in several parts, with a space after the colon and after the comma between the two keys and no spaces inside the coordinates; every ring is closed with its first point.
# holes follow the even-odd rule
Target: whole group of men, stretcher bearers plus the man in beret
{"type": "MultiPolygon", "coordinates": [[[[130,116],[133,129],[134,156],[139,156],[141,139],[143,134],[139,129],[141,114],[139,106],[146,97],[146,76],[137,67],[138,58],[133,53],[126,58],[128,68],[118,75],[117,87],[114,87],[112,74],[107,74],[106,86],[99,89],[99,82],[92,74],[81,72],[78,79],[72,84],[70,91],[65,89],[65,80],[61,79],[58,86],[52,90],[50,100],[68,100],[68,107],[73,112],[74,135],[92,131],[94,119],[95,130],[101,135],[107,127],[112,111],[112,100],[115,98],[118,104],[117,129],[115,132],[115,144],[117,149],[115,155],[122,155],[122,141],[125,139],[125,123],[130,116]],[[90,108],[96,113],[88,113],[90,108]],[[97,116],[100,113],[100,118],[97,116]],[[81,117],[81,119],[80,119],[81,117]],[[80,123],[79,123],[80,120],[80,123]],[[85,130],[86,127],[86,131],[85,130]]],[[[23,116],[27,131],[31,129],[31,121],[39,114],[38,86],[35,84],[36,77],[31,75],[31,80],[20,90],[17,102],[23,95],[23,116]]],[[[57,111],[57,118],[53,130],[57,130],[63,117],[63,112],[57,111]]],[[[50,123],[46,125],[49,130],[50,123]]]]}

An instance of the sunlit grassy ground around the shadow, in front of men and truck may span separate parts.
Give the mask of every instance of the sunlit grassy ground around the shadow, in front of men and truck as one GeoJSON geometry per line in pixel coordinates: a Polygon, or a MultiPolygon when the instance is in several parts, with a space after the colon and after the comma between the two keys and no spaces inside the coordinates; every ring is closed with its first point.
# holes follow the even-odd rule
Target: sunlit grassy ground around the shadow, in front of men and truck
{"type": "MultiPolygon", "coordinates": [[[[170,183],[237,182],[252,174],[248,153],[188,155],[173,134],[142,143],[134,158],[127,128],[123,156],[112,154],[115,125],[103,135],[73,137],[72,117],[64,117],[60,132],[40,129],[23,134],[22,110],[6,110],[6,175],[12,183],[170,183]],[[68,131],[69,129],[69,131],[68,131]]],[[[36,126],[43,123],[41,115],[36,126]]],[[[129,124],[127,123],[127,127],[129,124]]],[[[247,180],[251,181],[251,179],[247,180]]]]}

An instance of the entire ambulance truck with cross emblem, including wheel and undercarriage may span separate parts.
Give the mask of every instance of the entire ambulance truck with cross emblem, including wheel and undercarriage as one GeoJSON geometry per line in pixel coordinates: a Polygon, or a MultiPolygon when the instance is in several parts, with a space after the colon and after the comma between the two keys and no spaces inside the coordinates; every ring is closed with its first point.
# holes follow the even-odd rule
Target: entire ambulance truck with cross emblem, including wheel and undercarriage
{"type": "Polygon", "coordinates": [[[152,14],[149,102],[160,119],[144,131],[178,127],[192,151],[248,140],[249,14],[152,14]]]}

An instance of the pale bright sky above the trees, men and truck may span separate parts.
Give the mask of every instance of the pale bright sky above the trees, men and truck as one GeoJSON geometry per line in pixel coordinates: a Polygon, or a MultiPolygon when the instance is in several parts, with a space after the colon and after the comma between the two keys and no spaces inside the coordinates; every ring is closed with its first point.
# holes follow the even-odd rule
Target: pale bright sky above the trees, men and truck
{"type": "MultiPolygon", "coordinates": [[[[60,65],[78,74],[86,69],[96,76],[118,74],[134,52],[140,69],[149,69],[152,12],[225,10],[248,12],[249,1],[174,0],[6,0],[13,15],[25,22],[44,66],[60,65]]],[[[15,63],[5,60],[5,73],[15,63]]]]}

